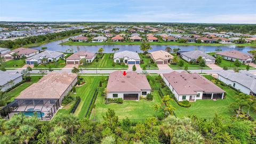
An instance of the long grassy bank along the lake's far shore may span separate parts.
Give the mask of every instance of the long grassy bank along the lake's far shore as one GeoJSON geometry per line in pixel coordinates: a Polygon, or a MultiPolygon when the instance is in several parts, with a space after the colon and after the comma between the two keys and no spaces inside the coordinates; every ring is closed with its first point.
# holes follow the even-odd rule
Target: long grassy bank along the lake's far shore
{"type": "MultiPolygon", "coordinates": [[[[256,44],[212,44],[212,43],[179,43],[179,42],[149,42],[151,45],[195,45],[195,46],[255,46],[256,44]]],[[[61,45],[140,45],[141,42],[103,42],[103,43],[83,43],[83,42],[65,42],[61,45]]]]}

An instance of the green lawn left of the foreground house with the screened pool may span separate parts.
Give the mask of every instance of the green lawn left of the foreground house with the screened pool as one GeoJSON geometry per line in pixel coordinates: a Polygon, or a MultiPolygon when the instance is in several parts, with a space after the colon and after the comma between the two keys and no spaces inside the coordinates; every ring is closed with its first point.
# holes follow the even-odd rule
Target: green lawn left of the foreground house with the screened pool
{"type": "Polygon", "coordinates": [[[30,86],[33,83],[38,82],[39,78],[42,76],[31,76],[31,82],[26,82],[23,83],[17,87],[15,87],[13,90],[11,90],[10,92],[7,92],[7,96],[9,97],[9,101],[11,102],[13,101],[16,97],[18,97],[18,95],[20,94],[21,91],[25,90],[28,86],[30,86]]]}

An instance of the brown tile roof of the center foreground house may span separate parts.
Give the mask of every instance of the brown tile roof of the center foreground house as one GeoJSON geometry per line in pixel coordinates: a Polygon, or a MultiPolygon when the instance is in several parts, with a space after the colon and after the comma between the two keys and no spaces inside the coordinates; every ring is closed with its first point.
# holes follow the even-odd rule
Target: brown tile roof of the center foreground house
{"type": "Polygon", "coordinates": [[[108,92],[140,92],[141,90],[151,90],[145,75],[129,71],[124,76],[123,71],[118,70],[109,74],[108,92]]]}

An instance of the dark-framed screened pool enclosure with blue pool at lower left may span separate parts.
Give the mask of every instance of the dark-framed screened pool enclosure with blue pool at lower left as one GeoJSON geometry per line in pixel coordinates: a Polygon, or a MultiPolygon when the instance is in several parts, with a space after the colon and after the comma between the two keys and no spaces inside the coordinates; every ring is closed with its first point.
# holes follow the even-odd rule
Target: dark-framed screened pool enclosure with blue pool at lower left
{"type": "Polygon", "coordinates": [[[41,120],[50,120],[59,107],[59,99],[15,99],[2,108],[0,114],[5,119],[22,113],[27,117],[36,115],[41,120]]]}

